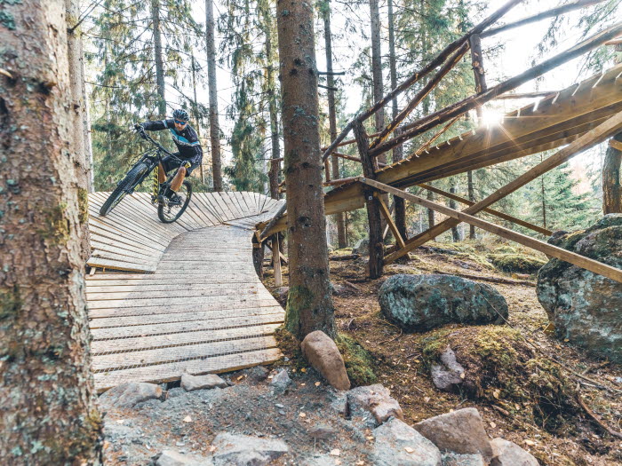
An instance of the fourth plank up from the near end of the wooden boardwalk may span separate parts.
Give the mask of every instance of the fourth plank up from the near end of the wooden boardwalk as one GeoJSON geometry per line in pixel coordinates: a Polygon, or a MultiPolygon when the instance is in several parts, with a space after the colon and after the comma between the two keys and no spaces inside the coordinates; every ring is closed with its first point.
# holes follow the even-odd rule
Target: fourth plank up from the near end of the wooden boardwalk
{"type": "Polygon", "coordinates": [[[216,331],[220,329],[246,328],[252,326],[280,324],[285,318],[281,312],[251,314],[240,316],[225,316],[209,320],[181,320],[170,323],[155,323],[135,325],[131,327],[92,328],[94,341],[134,338],[154,335],[166,335],[181,332],[216,331]]]}

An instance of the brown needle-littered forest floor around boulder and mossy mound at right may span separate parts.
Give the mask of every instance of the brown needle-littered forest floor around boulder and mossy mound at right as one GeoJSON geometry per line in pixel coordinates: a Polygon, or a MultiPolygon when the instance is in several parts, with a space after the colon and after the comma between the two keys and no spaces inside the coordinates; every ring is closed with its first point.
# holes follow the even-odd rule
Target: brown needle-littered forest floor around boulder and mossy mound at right
{"type": "MultiPolygon", "coordinates": [[[[535,276],[517,277],[496,270],[485,260],[486,252],[491,250],[482,251],[486,249],[482,244],[477,245],[480,252],[475,254],[455,254],[451,250],[444,250],[452,248],[451,245],[428,244],[432,247],[417,249],[416,254],[411,253],[407,263],[388,265],[385,276],[379,280],[365,279],[366,261],[361,258],[331,260],[331,282],[334,285],[346,284],[349,288],[344,296],[333,296],[339,333],[355,338],[371,352],[377,361],[375,372],[378,382],[390,389],[392,396],[399,401],[406,423],[417,423],[459,407],[475,407],[482,415],[490,438],[502,437],[514,441],[536,456],[542,464],[622,464],[622,439],[612,437],[602,430],[586,415],[585,410],[579,408],[576,415],[569,414],[554,429],[547,429],[534,421],[530,407],[526,405],[511,404],[510,409],[509,401],[503,399],[493,403],[490,399],[466,398],[466,395],[460,393],[448,393],[435,388],[422,357],[422,342],[429,332],[404,334],[380,313],[379,288],[387,277],[395,273],[440,272],[466,275],[466,278],[471,279],[478,276],[481,279],[473,280],[497,288],[506,297],[509,306],[507,325],[517,329],[530,344],[536,345],[541,354],[559,361],[565,367],[562,372],[568,375],[571,383],[576,384],[586,406],[610,429],[622,430],[622,367],[590,357],[585,351],[546,334],[548,320],[546,312],[538,303],[535,276]],[[526,283],[497,283],[487,279],[526,283]],[[573,372],[586,378],[573,375],[573,372]]],[[[492,249],[499,244],[488,246],[492,249]]],[[[350,252],[350,249],[341,249],[331,254],[334,256],[350,252]]],[[[283,267],[283,286],[288,285],[287,280],[287,267],[283,267]]],[[[274,276],[269,268],[266,268],[264,282],[268,289],[275,289],[274,276]]]]}

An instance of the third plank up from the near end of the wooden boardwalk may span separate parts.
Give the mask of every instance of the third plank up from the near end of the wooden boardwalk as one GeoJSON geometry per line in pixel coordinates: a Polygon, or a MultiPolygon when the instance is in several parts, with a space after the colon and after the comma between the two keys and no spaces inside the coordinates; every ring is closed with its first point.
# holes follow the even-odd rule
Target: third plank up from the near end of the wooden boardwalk
{"type": "MultiPolygon", "coordinates": [[[[135,336],[116,338],[114,340],[96,340],[91,344],[91,353],[97,358],[103,353],[118,353],[122,351],[149,350],[163,347],[171,347],[214,343],[225,340],[237,340],[253,336],[270,336],[281,324],[256,325],[241,328],[223,328],[220,330],[187,331],[183,333],[170,333],[156,336],[135,336]]],[[[126,356],[133,359],[132,354],[126,356]]]]}

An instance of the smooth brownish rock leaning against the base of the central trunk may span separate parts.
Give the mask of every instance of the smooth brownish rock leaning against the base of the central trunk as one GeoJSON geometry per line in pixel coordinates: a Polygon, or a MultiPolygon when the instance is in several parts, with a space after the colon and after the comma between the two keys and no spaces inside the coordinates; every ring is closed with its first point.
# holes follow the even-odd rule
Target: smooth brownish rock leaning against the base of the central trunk
{"type": "Polygon", "coordinates": [[[350,390],[344,364],[337,344],[322,330],[311,332],[300,344],[305,359],[337,390],[350,390]]]}

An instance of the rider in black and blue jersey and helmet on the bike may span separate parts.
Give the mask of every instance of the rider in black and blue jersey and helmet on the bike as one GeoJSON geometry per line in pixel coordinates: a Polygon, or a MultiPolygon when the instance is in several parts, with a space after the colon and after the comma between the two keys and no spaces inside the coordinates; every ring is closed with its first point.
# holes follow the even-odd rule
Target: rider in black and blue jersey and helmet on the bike
{"type": "MultiPolygon", "coordinates": [[[[172,118],[157,122],[143,122],[134,125],[137,131],[161,131],[170,130],[172,141],[177,146],[178,152],[173,154],[176,157],[167,155],[160,163],[158,170],[158,181],[162,184],[166,181],[166,174],[172,170],[179,169],[171,180],[170,196],[171,201],[179,202],[177,191],[184,181],[184,178],[190,175],[192,170],[201,165],[203,161],[203,149],[201,142],[192,126],[188,124],[190,116],[183,108],[178,108],[172,113],[172,118]],[[179,158],[177,158],[179,157],[179,158]],[[180,160],[179,160],[180,159],[180,160]],[[189,166],[185,167],[189,163],[189,166]]],[[[158,199],[163,201],[163,199],[158,199]]]]}

